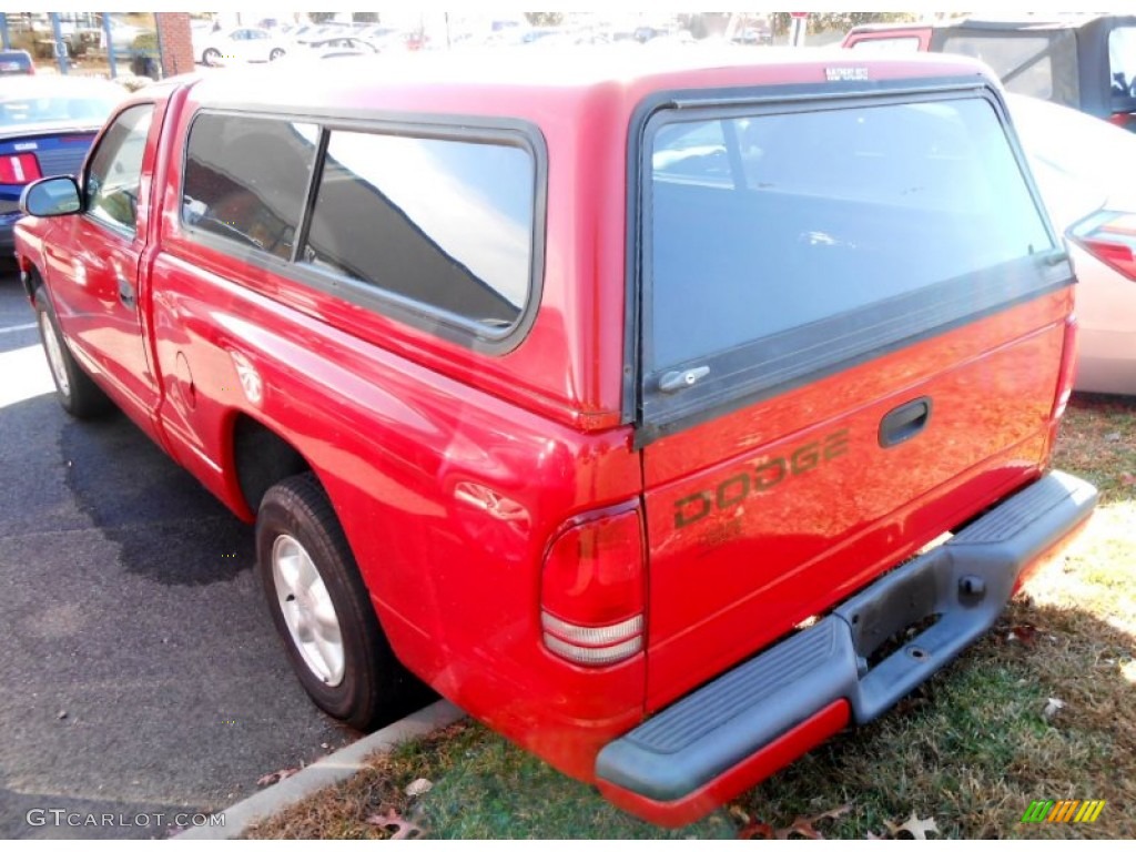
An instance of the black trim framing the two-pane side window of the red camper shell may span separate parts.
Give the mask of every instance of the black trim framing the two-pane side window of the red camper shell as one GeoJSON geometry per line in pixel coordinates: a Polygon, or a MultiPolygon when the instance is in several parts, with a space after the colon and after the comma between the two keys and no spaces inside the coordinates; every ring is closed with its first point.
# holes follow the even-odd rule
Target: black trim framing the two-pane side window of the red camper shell
{"type": "Polygon", "coordinates": [[[374,311],[384,317],[419,331],[433,334],[450,343],[456,343],[475,352],[503,356],[528,336],[536,318],[544,284],[546,214],[548,214],[548,147],[540,128],[518,118],[486,118],[484,116],[459,116],[437,114],[384,112],[362,109],[314,109],[291,112],[262,105],[228,105],[224,108],[202,106],[190,120],[190,127],[182,143],[181,191],[185,191],[185,164],[193,125],[202,115],[235,116],[241,118],[265,118],[293,124],[316,125],[317,140],[315,160],[308,175],[308,186],[303,208],[295,231],[290,259],[282,259],[267,251],[241,245],[232,240],[194,227],[185,222],[184,211],[178,209],[178,225],[190,242],[227,254],[242,262],[344,299],[352,304],[374,311]],[[471,321],[465,317],[381,289],[374,284],[358,282],[336,275],[327,269],[317,269],[300,262],[300,249],[311,227],[316,193],[323,174],[327,144],[333,131],[375,133],[408,136],[412,139],[445,140],[479,144],[496,144],[519,148],[533,161],[533,216],[529,236],[528,295],[516,321],[506,329],[471,321]]]}

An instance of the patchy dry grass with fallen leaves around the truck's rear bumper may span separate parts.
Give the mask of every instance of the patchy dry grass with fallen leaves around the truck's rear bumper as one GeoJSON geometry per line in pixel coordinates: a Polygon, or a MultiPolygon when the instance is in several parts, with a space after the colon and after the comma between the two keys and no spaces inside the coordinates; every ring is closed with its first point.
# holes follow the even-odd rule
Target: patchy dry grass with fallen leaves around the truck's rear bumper
{"type": "Polygon", "coordinates": [[[838,805],[827,836],[887,833],[912,812],[944,837],[1136,836],[1136,400],[1077,396],[1055,466],[1102,503],[996,628],[879,721],[847,730],[682,832],[646,826],[476,722],[325,791],[254,837],[385,837],[394,809],[435,837],[726,837],[838,805]],[[1050,699],[1063,702],[1052,718],[1050,699]],[[412,800],[419,777],[434,788],[412,800]],[[1034,799],[1105,799],[1092,825],[1024,825],[1034,799]]]}

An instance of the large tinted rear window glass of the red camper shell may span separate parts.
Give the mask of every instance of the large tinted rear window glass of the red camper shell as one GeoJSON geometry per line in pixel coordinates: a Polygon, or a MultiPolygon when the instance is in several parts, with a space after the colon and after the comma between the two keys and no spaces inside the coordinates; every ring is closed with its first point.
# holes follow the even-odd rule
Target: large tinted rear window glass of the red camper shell
{"type": "Polygon", "coordinates": [[[649,124],[649,392],[724,356],[772,387],[1044,285],[1053,239],[985,98],[691,112],[649,124]]]}

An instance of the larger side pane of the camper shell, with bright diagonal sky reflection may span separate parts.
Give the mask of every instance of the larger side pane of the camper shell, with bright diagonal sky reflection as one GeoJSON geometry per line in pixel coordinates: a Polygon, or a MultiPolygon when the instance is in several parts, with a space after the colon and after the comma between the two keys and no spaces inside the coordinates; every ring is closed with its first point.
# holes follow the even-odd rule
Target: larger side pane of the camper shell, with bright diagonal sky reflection
{"type": "Polygon", "coordinates": [[[528,300],[534,185],[516,145],[333,130],[300,259],[503,334],[528,300]]]}

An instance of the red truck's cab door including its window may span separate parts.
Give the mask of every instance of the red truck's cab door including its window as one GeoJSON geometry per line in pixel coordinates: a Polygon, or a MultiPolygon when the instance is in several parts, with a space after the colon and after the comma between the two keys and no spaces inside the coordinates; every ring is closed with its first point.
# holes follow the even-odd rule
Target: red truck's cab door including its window
{"type": "Polygon", "coordinates": [[[76,354],[148,432],[158,384],[142,321],[139,265],[160,120],[154,103],[127,107],[95,141],[83,212],[61,220],[50,248],[51,296],[76,354]]]}

